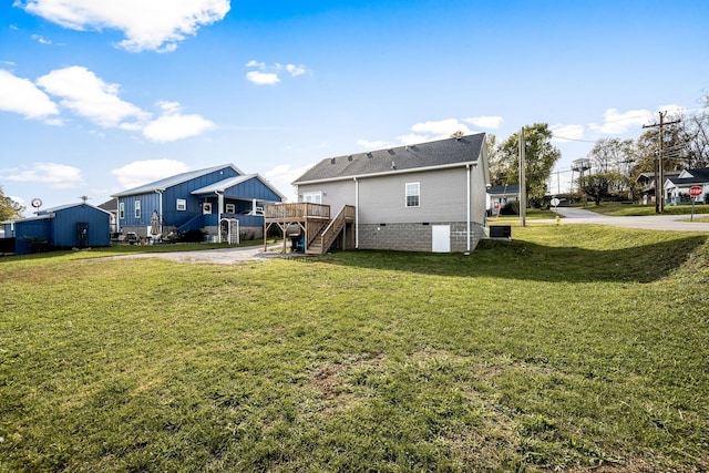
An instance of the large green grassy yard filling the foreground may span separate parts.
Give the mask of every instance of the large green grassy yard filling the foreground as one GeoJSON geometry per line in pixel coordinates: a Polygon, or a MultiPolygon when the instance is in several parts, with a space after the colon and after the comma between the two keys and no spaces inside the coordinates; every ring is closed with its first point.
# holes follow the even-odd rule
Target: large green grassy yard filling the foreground
{"type": "Polygon", "coordinates": [[[708,237],[513,236],[0,259],[0,472],[709,470],[708,237]]]}

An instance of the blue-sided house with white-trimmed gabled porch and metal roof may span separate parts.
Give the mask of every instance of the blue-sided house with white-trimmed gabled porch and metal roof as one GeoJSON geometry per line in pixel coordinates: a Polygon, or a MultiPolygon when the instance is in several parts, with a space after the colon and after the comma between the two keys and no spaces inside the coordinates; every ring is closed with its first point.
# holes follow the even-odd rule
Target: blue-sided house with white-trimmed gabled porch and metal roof
{"type": "Polygon", "coordinates": [[[177,174],[123,191],[117,232],[138,238],[201,229],[212,240],[253,239],[264,235],[264,205],[282,202],[258,174],[244,174],[234,164],[177,174]]]}

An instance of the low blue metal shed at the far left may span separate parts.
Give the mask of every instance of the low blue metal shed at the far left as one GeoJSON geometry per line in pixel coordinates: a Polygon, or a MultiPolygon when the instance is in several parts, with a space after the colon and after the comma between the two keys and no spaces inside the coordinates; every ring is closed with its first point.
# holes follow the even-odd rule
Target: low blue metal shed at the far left
{"type": "Polygon", "coordinates": [[[111,213],[85,203],[39,210],[34,217],[3,223],[14,253],[109,246],[111,213]]]}

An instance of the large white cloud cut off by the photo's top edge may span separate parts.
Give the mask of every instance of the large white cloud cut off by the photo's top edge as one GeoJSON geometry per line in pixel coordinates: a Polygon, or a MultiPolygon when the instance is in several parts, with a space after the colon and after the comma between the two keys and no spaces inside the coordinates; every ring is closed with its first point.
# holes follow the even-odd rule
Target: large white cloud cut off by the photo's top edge
{"type": "Polygon", "coordinates": [[[201,27],[222,21],[229,0],[27,0],[16,6],[73,30],[114,29],[125,40],[119,43],[131,52],[174,51],[201,27]]]}

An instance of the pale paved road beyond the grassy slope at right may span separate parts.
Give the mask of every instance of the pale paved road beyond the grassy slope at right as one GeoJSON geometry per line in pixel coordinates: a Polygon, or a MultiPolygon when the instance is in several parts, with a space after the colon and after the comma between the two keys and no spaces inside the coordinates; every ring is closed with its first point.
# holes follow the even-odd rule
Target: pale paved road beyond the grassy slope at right
{"type": "MultiPolygon", "coordinates": [[[[576,207],[557,207],[556,213],[564,217],[562,225],[599,224],[614,227],[641,228],[668,232],[709,232],[709,223],[679,222],[689,219],[689,215],[648,215],[645,217],[613,217],[576,207]]],[[[695,215],[697,216],[697,215],[695,215]]],[[[707,216],[701,215],[701,216],[707,216]]],[[[534,220],[531,220],[534,222],[534,220]]],[[[548,222],[548,220],[547,220],[548,222]]]]}

